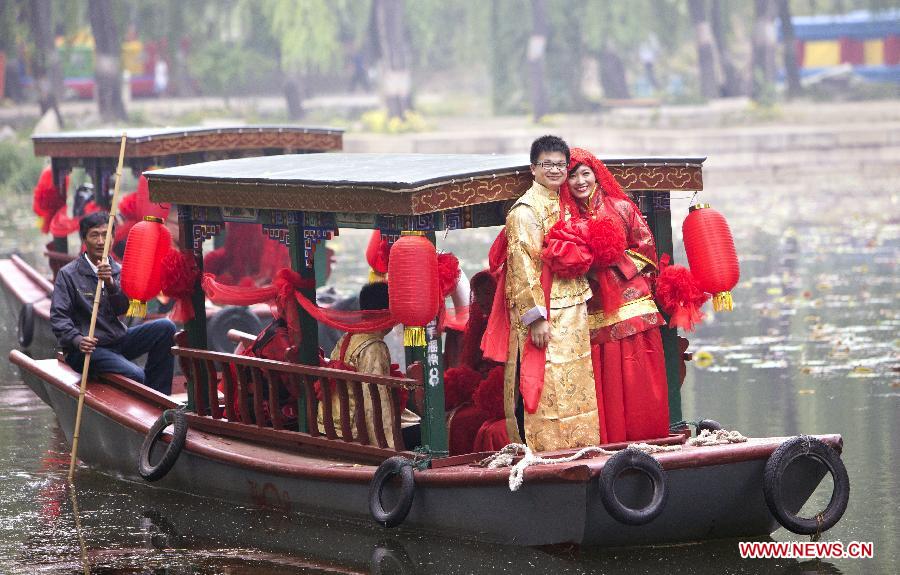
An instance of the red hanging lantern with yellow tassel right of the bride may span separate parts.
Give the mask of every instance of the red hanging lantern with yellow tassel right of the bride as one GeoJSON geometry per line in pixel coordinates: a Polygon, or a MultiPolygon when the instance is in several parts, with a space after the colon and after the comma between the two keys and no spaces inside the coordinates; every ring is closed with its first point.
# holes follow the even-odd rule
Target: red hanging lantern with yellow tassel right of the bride
{"type": "Polygon", "coordinates": [[[740,279],[728,222],[709,204],[691,206],[681,227],[691,273],[700,289],[713,294],[713,309],[731,311],[731,290],[740,279]]]}

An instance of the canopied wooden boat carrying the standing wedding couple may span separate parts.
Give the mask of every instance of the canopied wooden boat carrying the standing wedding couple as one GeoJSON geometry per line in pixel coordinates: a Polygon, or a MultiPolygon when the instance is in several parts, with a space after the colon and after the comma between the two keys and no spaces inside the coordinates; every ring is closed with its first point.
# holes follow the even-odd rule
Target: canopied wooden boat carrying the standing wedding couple
{"type": "MultiPolygon", "coordinates": [[[[671,254],[669,193],[702,188],[703,158],[604,161],[637,200],[660,252],[671,254]]],[[[154,201],[179,206],[181,234],[195,239],[195,254],[203,237],[229,218],[263,222],[277,228],[272,237],[290,242],[292,265],[307,278],[315,272],[315,243],[340,227],[428,236],[497,225],[531,183],[526,158],[476,155],[270,156],[147,176],[154,201]]],[[[308,290],[298,291],[314,298],[308,290]]],[[[91,379],[80,435],[85,463],[235,504],[258,504],[262,498],[307,514],[371,515],[386,526],[402,523],[417,531],[516,545],[747,538],[768,535],[780,524],[813,533],[831,527],[846,508],[849,483],[839,435],[698,446],[688,440],[686,427],[648,441],[677,450],[651,457],[635,455],[624,444],[607,445],[608,451],[620,451],[527,467],[524,484],[512,491],[509,468],[477,465],[491,453],[448,456],[441,338],[435,330],[426,329],[426,340],[438,353],[410,349],[419,361],[403,377],[386,377],[317,367],[315,322],[302,308],[300,364],[206,351],[204,322],[199,314],[186,324],[173,348],[187,376],[186,406],[120,376],[91,379]],[[224,402],[217,389],[220,379],[227,383],[224,402]],[[336,386],[332,391],[321,386],[319,401],[315,383],[329,379],[336,386]],[[277,409],[270,419],[264,390],[277,397],[289,384],[299,390],[297,421],[287,422],[277,409]],[[386,402],[394,448],[380,432],[380,422],[374,426],[376,437],[368,437],[360,407],[363,388],[376,405],[386,402]],[[424,397],[425,450],[411,451],[403,443],[401,388],[424,397]],[[350,397],[357,406],[352,426],[350,397]],[[163,434],[173,422],[173,436],[163,434]],[[817,518],[799,517],[829,472],[834,493],[827,509],[817,518]],[[400,482],[390,481],[395,475],[400,482]]],[[[235,337],[245,343],[253,339],[235,337]]],[[[674,330],[665,328],[663,340],[671,418],[680,421],[681,349],[674,330]]],[[[53,407],[71,439],[78,374],[60,361],[33,360],[16,350],[10,360],[53,407]]],[[[377,420],[381,410],[374,412],[377,420]]]]}

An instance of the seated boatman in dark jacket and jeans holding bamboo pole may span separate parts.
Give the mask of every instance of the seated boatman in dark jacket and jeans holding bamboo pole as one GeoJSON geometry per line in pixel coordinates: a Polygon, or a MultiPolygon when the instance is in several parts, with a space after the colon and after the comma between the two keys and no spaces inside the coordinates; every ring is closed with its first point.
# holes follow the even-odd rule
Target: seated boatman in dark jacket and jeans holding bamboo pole
{"type": "Polygon", "coordinates": [[[90,373],[118,373],[157,391],[172,391],[175,358],[171,347],[175,324],[163,318],[126,328],[119,316],[128,309],[128,297],[119,287],[122,267],[103,258],[109,214],[94,212],[81,219],[79,234],[84,253],[56,274],[50,303],[50,327],[65,354],[66,363],[79,373],[90,353],[90,373]],[[88,337],[98,278],[103,282],[94,337],[88,337]],[[147,354],[141,369],[131,360],[147,354]]]}

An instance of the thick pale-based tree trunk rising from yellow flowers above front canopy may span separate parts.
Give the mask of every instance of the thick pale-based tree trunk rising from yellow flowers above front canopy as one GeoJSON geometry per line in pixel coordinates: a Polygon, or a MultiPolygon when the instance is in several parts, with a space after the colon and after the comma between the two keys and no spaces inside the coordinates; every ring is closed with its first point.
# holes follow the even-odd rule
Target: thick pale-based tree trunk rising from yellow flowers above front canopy
{"type": "Polygon", "coordinates": [[[403,0],[375,0],[373,5],[382,54],[382,93],[392,118],[403,118],[412,108],[409,41],[404,24],[403,0]]]}

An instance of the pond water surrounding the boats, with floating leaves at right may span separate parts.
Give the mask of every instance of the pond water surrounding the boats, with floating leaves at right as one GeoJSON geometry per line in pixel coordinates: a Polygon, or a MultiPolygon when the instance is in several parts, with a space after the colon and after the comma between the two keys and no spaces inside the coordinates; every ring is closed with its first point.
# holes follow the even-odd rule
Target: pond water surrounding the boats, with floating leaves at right
{"type": "MultiPolygon", "coordinates": [[[[900,560],[900,361],[895,180],[704,193],[741,258],[736,309],[689,334],[686,419],[745,435],[840,433],[850,505],[826,541],[871,541],[874,559],[742,560],[735,541],[639,549],[521,549],[386,532],[186,497],[82,469],[53,412],[0,362],[0,573],[895,573],[900,560]],[[854,188],[856,186],[856,188],[854,188]],[[856,189],[855,196],[848,190],[856,189]],[[76,509],[78,513],[76,513],[76,509]]],[[[675,228],[687,211],[673,199],[675,228]]],[[[4,198],[0,252],[40,259],[30,198],[4,198]]],[[[440,238],[471,275],[488,231],[440,238]]],[[[366,236],[335,242],[335,283],[358,285],[366,236]]],[[[683,253],[676,259],[684,261],[683,253]]],[[[707,306],[708,307],[708,306],[707,306]]],[[[11,319],[0,348],[15,342],[11,319]]],[[[4,351],[5,354],[5,351],[4,351]]],[[[814,503],[824,505],[820,490],[814,503]]],[[[805,537],[777,531],[776,541],[805,537]]]]}

